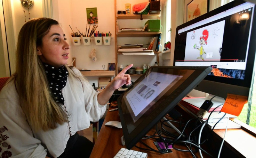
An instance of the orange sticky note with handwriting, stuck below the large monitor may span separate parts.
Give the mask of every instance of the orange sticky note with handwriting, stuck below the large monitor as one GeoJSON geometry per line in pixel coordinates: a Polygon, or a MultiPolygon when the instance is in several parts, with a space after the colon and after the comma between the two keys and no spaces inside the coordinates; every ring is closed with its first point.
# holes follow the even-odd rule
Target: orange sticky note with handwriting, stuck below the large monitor
{"type": "Polygon", "coordinates": [[[247,103],[247,100],[247,96],[227,94],[227,98],[221,111],[231,115],[239,116],[243,109],[243,105],[247,103]]]}

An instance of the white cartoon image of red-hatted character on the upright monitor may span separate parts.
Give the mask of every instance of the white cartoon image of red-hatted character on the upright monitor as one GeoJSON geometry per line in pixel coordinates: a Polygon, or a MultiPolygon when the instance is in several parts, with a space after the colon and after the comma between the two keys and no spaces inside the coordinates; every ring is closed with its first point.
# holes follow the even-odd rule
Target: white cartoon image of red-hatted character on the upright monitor
{"type": "Polygon", "coordinates": [[[185,61],[219,62],[225,20],[187,32],[185,61]]]}

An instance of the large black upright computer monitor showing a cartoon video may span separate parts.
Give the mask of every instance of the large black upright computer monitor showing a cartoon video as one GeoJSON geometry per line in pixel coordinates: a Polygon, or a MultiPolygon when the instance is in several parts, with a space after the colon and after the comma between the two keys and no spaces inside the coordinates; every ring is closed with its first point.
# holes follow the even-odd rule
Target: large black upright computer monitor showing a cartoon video
{"type": "Polygon", "coordinates": [[[255,4],[235,0],[177,27],[174,66],[211,66],[196,90],[248,96],[256,51],[255,4]]]}

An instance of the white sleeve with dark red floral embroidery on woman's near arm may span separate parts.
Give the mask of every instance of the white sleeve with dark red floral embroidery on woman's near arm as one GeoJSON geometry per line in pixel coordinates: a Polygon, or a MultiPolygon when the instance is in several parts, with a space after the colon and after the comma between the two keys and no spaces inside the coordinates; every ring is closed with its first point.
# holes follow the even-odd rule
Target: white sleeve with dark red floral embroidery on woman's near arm
{"type": "Polygon", "coordinates": [[[18,104],[13,83],[0,93],[0,155],[13,158],[45,158],[46,149],[33,132],[18,104]]]}

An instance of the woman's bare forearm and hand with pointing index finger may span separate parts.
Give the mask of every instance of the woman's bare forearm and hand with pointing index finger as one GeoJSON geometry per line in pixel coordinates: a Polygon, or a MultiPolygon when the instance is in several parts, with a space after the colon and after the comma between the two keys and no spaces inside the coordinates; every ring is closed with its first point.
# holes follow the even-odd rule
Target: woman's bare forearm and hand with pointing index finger
{"type": "Polygon", "coordinates": [[[126,66],[117,76],[113,78],[113,80],[106,86],[106,88],[98,94],[98,103],[100,105],[105,105],[114,91],[116,89],[119,89],[122,85],[126,84],[129,85],[131,84],[131,77],[128,74],[125,74],[126,71],[131,68],[133,64],[130,64],[126,66]]]}

